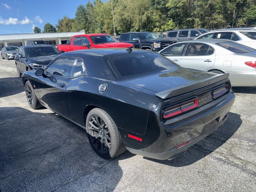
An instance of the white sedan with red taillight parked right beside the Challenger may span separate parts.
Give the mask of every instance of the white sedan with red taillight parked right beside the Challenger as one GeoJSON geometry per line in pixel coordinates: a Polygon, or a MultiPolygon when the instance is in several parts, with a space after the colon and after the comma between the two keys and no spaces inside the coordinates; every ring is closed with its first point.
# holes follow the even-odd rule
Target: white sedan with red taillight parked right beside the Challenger
{"type": "Polygon", "coordinates": [[[224,39],[172,44],[158,52],[182,67],[229,73],[232,86],[256,86],[256,50],[224,39]]]}

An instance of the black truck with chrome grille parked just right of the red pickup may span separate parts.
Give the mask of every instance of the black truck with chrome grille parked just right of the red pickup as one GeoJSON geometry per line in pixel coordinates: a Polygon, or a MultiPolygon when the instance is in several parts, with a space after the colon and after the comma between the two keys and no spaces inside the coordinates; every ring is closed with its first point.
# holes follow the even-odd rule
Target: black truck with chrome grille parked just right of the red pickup
{"type": "Polygon", "coordinates": [[[163,48],[173,44],[172,41],[158,38],[158,36],[149,32],[130,32],[123,33],[120,36],[120,42],[128,42],[134,45],[137,49],[147,49],[152,51],[160,51],[163,48]]]}

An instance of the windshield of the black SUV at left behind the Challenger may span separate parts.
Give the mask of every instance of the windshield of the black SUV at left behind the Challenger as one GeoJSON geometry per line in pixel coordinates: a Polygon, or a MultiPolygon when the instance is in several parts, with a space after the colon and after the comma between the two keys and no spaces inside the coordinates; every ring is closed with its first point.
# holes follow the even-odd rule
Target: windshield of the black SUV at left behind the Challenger
{"type": "Polygon", "coordinates": [[[26,54],[28,57],[38,57],[38,56],[47,56],[47,55],[56,55],[60,54],[58,49],[53,46],[45,47],[27,47],[26,54]]]}

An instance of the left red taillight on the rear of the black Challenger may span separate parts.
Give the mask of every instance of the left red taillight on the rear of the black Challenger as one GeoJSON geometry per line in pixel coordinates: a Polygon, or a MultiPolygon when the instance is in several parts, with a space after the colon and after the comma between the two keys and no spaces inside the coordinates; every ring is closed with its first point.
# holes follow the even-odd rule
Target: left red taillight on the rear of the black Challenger
{"type": "Polygon", "coordinates": [[[194,108],[196,108],[198,106],[198,100],[197,98],[194,98],[192,100],[188,100],[185,102],[182,102],[180,104],[174,105],[174,106],[170,106],[168,108],[166,108],[164,110],[164,114],[163,117],[166,118],[170,118],[172,116],[181,114],[183,112],[192,110],[194,108]]]}

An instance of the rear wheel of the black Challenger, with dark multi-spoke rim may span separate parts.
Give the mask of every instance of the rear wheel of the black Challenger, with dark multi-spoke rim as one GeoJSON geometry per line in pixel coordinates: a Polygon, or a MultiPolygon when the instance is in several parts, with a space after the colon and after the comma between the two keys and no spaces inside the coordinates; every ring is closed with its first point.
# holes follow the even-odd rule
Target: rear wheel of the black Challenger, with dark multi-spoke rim
{"type": "Polygon", "coordinates": [[[100,108],[92,109],[86,118],[86,130],[93,150],[100,157],[115,158],[126,151],[118,128],[106,111],[100,108]]]}

